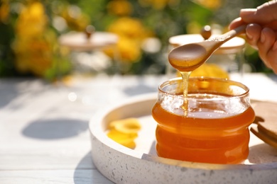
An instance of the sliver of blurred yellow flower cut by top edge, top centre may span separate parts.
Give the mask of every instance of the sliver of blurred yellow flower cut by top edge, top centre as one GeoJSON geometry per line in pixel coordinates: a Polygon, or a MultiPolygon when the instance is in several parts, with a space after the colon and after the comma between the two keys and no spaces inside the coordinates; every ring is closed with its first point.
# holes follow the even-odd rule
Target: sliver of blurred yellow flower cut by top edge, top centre
{"type": "Polygon", "coordinates": [[[139,0],[141,6],[152,6],[155,9],[161,10],[165,6],[173,6],[179,4],[180,0],[139,0]]]}

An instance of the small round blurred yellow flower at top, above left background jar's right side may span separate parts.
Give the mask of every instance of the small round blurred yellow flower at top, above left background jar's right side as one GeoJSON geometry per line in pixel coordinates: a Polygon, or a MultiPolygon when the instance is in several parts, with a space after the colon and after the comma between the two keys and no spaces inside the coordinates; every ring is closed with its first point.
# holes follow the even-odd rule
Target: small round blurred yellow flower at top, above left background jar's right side
{"type": "Polygon", "coordinates": [[[126,0],[113,0],[107,4],[108,12],[116,16],[129,16],[133,12],[133,7],[126,0]]]}

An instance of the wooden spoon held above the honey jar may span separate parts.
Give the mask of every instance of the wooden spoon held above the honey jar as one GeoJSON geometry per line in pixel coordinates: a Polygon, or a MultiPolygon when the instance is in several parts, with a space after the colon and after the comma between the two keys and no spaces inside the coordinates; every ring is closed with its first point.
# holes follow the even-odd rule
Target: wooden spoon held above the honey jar
{"type": "Polygon", "coordinates": [[[168,61],[178,71],[193,71],[205,63],[224,42],[244,33],[245,28],[246,25],[241,25],[216,38],[175,47],[168,54],[168,61]]]}

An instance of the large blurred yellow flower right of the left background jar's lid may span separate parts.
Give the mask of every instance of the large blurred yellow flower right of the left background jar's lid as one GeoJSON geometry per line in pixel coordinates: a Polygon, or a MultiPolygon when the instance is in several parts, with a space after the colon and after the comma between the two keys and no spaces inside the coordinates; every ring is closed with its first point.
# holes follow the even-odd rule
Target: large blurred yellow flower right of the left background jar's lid
{"type": "MultiPolygon", "coordinates": [[[[108,31],[119,36],[118,50],[121,62],[136,62],[141,57],[141,43],[151,33],[144,28],[139,19],[122,17],[114,21],[108,31]]],[[[111,50],[106,50],[111,55],[111,50]]]]}

